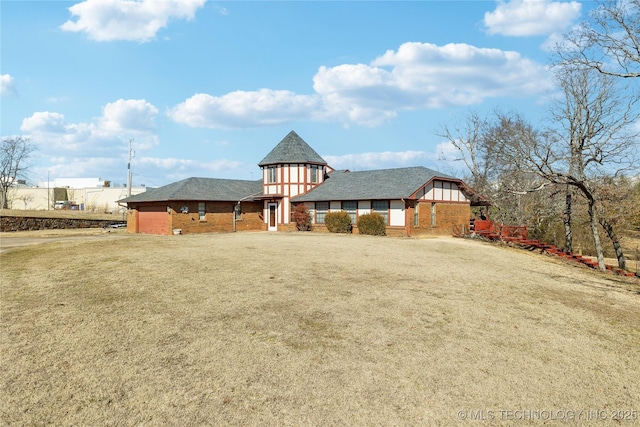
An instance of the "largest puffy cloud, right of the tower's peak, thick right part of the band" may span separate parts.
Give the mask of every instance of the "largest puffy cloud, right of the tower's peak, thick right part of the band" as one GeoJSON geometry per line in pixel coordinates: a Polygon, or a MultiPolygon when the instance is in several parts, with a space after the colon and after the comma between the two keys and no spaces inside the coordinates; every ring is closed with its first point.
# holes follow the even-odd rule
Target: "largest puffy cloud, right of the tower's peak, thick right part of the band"
{"type": "Polygon", "coordinates": [[[487,98],[536,96],[547,69],[517,52],[457,43],[404,43],[370,65],[321,67],[314,89],[325,114],[376,125],[399,110],[468,106],[487,98]]]}

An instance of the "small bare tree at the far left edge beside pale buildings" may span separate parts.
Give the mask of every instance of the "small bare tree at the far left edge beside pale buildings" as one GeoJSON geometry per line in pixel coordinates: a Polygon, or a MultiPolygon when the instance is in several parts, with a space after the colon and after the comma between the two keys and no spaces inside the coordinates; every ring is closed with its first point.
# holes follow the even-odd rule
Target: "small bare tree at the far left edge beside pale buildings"
{"type": "Polygon", "coordinates": [[[9,188],[16,179],[25,177],[28,159],[33,151],[29,138],[22,136],[2,138],[0,151],[0,206],[8,209],[9,188]]]}

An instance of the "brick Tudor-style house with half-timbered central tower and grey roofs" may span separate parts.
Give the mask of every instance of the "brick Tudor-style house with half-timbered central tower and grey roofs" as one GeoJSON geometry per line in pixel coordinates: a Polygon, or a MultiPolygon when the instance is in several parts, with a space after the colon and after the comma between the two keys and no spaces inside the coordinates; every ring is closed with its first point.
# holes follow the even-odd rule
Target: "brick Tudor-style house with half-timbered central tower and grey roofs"
{"type": "Polygon", "coordinates": [[[462,180],[417,166],[350,172],[334,170],[291,131],[259,163],[257,181],[187,178],[120,200],[132,233],[178,234],[248,230],[292,231],[294,207],[303,203],[313,230],[343,210],[357,217],[380,213],[387,235],[460,233],[472,205],[488,202],[462,180]]]}

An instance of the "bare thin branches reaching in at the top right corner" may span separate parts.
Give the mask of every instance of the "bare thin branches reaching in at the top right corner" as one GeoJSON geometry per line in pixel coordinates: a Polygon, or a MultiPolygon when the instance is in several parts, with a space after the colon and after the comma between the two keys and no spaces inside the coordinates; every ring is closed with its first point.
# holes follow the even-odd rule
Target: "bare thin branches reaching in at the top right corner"
{"type": "Polygon", "coordinates": [[[557,46],[565,65],[640,77],[640,0],[604,0],[557,46]]]}

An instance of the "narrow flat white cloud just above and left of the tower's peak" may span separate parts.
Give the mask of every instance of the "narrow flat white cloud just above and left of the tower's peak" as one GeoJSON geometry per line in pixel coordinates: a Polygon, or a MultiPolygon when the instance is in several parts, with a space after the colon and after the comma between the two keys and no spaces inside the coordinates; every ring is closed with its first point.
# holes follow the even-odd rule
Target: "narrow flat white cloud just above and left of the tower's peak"
{"type": "Polygon", "coordinates": [[[236,91],[221,97],[193,95],[169,111],[169,117],[192,127],[235,128],[267,126],[309,119],[317,109],[313,96],[286,90],[236,91]]]}

